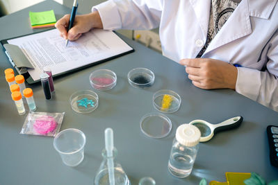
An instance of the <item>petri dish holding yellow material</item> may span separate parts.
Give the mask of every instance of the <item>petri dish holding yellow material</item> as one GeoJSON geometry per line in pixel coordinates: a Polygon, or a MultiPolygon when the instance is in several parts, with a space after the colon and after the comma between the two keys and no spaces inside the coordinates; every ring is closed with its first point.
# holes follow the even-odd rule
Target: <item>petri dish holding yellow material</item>
{"type": "Polygon", "coordinates": [[[174,91],[163,89],[154,93],[152,102],[158,111],[172,113],[179,109],[181,97],[174,91]]]}

